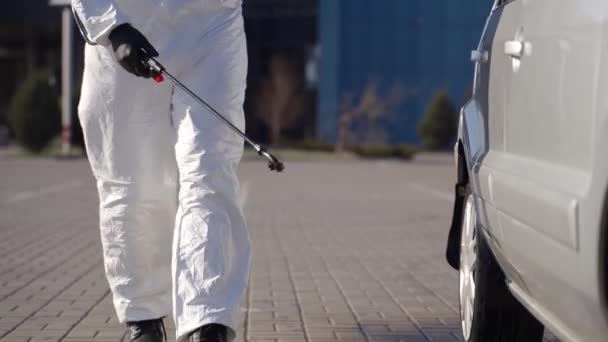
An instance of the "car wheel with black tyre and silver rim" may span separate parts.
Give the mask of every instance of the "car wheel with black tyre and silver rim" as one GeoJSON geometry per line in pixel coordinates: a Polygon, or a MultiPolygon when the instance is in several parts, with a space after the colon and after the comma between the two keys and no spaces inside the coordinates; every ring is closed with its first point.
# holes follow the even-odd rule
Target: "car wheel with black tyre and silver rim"
{"type": "Polygon", "coordinates": [[[478,231],[467,187],[460,239],[460,321],[466,342],[536,342],[544,327],[513,297],[503,272],[478,231]]]}

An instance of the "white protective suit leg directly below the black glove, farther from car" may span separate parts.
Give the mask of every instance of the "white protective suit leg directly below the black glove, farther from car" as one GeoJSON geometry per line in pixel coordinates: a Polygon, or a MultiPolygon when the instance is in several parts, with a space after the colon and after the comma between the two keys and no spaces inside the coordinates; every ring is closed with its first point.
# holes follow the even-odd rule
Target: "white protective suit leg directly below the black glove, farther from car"
{"type": "Polygon", "coordinates": [[[105,271],[121,322],[171,313],[177,171],[171,88],[87,46],[79,115],[99,191],[105,271]]]}

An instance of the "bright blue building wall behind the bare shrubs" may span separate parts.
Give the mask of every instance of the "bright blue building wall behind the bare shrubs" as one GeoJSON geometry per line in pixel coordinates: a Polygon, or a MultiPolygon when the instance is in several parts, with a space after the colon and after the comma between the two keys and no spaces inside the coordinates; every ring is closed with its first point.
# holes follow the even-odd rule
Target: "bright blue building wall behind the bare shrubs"
{"type": "Polygon", "coordinates": [[[472,85],[475,49],[491,0],[321,0],[318,132],[336,138],[341,101],[369,82],[398,85],[404,100],[386,132],[417,143],[417,123],[433,93],[460,106],[472,85]]]}

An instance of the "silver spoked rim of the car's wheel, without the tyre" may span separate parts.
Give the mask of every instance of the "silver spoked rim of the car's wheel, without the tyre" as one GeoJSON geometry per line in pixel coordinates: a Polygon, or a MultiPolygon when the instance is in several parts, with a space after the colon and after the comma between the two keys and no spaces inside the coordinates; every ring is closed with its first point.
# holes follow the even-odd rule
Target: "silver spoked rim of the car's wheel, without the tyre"
{"type": "Polygon", "coordinates": [[[477,270],[477,216],[473,196],[465,202],[460,240],[460,323],[466,341],[471,336],[475,308],[475,276],[477,270]]]}

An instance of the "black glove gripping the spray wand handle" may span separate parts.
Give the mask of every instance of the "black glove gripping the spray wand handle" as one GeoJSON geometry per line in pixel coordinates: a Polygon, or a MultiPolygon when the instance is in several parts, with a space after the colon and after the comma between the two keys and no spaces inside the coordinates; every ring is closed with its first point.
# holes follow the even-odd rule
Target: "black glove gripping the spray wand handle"
{"type": "Polygon", "coordinates": [[[122,24],[110,32],[109,38],[116,60],[125,70],[139,77],[155,76],[145,61],[147,56],[158,57],[158,52],[141,32],[122,24]]]}

